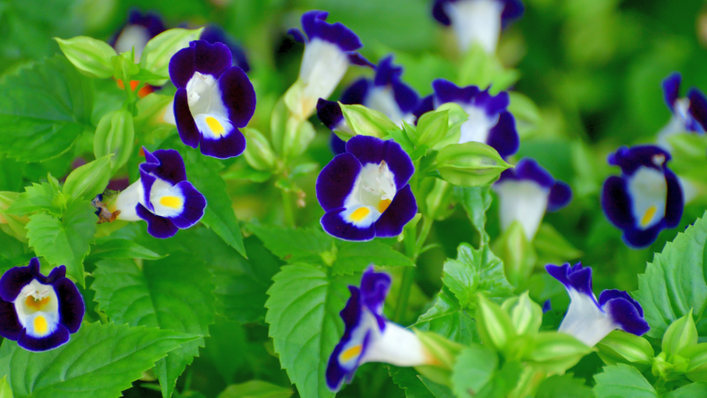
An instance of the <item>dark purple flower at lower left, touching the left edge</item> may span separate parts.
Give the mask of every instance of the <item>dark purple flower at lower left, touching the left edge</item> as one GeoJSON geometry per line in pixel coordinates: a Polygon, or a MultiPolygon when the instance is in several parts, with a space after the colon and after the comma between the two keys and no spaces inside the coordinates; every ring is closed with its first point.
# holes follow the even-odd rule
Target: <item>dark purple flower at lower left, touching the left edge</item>
{"type": "Polygon", "coordinates": [[[0,278],[0,336],[29,351],[47,351],[79,331],[83,297],[63,265],[48,277],[39,273],[37,257],[0,278]]]}

